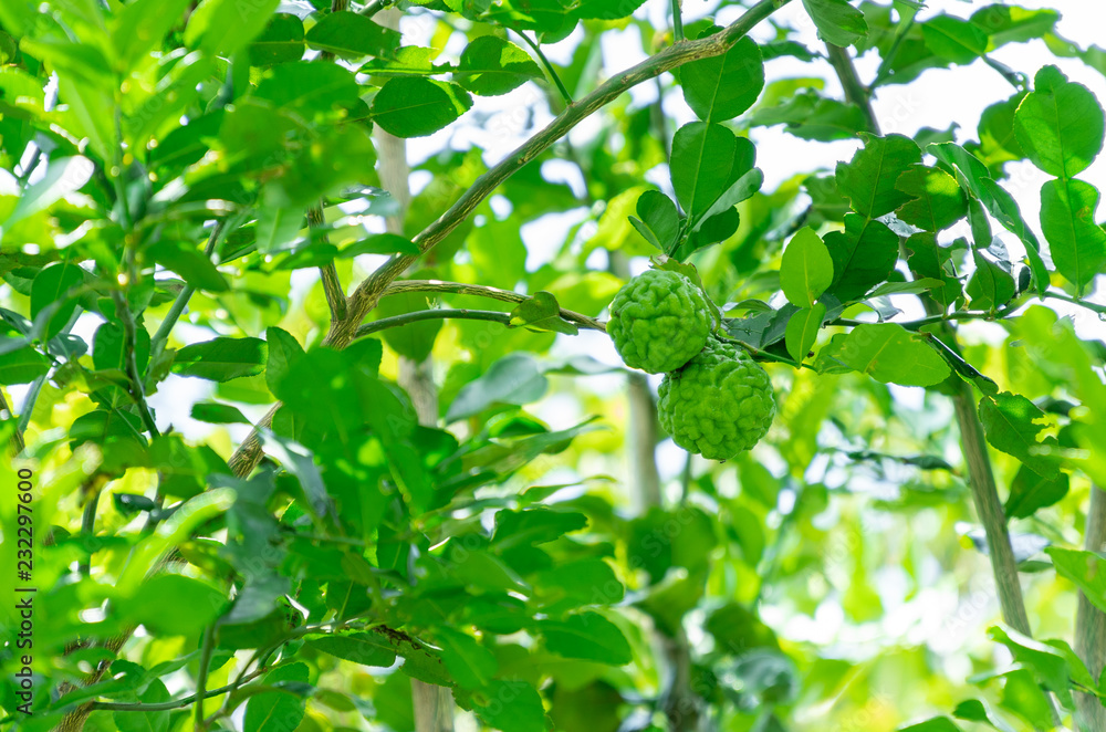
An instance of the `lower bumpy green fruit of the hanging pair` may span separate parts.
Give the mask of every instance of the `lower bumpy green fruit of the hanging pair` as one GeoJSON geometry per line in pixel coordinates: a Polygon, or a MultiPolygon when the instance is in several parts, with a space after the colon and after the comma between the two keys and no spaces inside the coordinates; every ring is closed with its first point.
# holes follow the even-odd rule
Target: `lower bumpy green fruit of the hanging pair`
{"type": "Polygon", "coordinates": [[[687,366],[665,375],[657,414],[676,445],[729,460],[768,432],[775,396],[768,373],[748,353],[711,338],[687,366]]]}

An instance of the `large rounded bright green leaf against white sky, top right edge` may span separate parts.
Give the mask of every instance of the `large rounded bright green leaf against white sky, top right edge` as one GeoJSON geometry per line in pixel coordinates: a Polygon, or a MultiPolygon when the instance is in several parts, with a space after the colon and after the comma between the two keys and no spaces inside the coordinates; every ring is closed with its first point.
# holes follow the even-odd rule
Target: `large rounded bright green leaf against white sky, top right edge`
{"type": "Polygon", "coordinates": [[[1044,66],[1018,105],[1014,133],[1033,165],[1057,178],[1085,169],[1103,147],[1104,115],[1095,95],[1044,66]]]}

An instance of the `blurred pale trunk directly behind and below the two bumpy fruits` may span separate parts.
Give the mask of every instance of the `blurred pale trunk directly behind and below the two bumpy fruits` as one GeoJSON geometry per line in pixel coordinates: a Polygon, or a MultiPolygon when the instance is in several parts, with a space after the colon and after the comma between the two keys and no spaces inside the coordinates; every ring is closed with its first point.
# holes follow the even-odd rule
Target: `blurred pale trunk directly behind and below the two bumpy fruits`
{"type": "MultiPolygon", "coordinates": [[[[622,252],[611,253],[611,270],[618,276],[629,276],[629,268],[622,252]]],[[[629,462],[632,500],[639,514],[664,504],[660,493],[660,474],[657,471],[657,405],[645,374],[630,372],[626,376],[626,399],[629,404],[626,435],[626,453],[629,462]]],[[[690,456],[689,456],[690,459],[690,456]]],[[[660,647],[667,669],[662,710],[668,718],[669,732],[693,732],[699,729],[701,700],[691,688],[691,650],[682,626],[672,635],[657,629],[656,642],[660,647]]]]}

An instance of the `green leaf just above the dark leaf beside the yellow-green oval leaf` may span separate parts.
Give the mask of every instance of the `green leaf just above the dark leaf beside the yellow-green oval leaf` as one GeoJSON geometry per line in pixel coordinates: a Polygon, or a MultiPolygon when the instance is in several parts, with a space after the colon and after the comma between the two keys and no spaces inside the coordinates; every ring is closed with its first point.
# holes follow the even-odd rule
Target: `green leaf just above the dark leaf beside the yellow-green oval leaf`
{"type": "Polygon", "coordinates": [[[848,163],[837,164],[837,190],[849,199],[854,211],[874,219],[910,200],[895,185],[902,172],[921,161],[921,150],[902,135],[860,137],[864,148],[848,163]]]}

